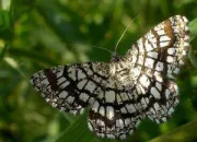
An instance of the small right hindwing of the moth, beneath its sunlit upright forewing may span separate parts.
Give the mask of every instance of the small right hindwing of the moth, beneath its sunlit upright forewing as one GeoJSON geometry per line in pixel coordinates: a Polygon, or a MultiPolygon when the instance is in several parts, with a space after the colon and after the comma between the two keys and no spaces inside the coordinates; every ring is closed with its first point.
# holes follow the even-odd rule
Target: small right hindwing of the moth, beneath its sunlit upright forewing
{"type": "Polygon", "coordinates": [[[178,87],[172,81],[165,81],[159,85],[158,83],[150,88],[148,107],[144,114],[148,118],[157,123],[165,122],[174,113],[178,100],[178,87]]]}

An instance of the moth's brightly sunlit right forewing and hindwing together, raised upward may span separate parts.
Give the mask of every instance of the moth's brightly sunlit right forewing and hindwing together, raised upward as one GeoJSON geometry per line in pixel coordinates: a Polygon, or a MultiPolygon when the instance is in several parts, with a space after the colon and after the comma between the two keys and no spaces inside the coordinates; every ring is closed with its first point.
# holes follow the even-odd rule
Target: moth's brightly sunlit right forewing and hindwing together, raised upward
{"type": "Polygon", "coordinates": [[[143,111],[158,123],[166,121],[178,103],[177,85],[173,80],[189,49],[187,23],[185,16],[172,16],[148,32],[126,54],[135,64],[134,92],[142,94],[142,105],[148,106],[143,111]]]}

